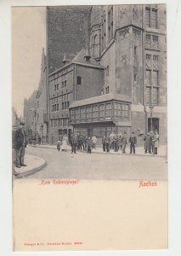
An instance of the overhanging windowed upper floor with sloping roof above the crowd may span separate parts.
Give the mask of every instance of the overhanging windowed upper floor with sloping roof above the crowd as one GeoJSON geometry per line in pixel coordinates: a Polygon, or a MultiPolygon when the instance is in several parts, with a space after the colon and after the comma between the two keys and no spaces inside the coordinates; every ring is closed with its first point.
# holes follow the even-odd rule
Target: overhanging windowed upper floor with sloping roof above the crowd
{"type": "Polygon", "coordinates": [[[125,95],[107,94],[72,102],[69,110],[71,125],[131,122],[131,100],[125,95]]]}

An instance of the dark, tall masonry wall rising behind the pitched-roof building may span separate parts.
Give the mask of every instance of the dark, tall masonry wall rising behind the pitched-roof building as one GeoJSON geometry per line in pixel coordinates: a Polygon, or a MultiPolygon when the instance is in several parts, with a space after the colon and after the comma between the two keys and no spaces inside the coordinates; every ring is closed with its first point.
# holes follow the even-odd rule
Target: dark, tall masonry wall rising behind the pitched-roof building
{"type": "Polygon", "coordinates": [[[69,59],[87,44],[89,6],[47,8],[48,73],[62,67],[65,53],[69,59]]]}

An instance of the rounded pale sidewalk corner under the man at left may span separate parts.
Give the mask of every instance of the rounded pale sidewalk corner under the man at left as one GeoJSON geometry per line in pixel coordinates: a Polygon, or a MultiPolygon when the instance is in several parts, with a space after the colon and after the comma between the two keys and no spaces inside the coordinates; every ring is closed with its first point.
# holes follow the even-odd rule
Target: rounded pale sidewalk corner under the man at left
{"type": "Polygon", "coordinates": [[[14,177],[25,177],[34,172],[40,171],[44,166],[46,166],[46,162],[35,155],[25,154],[25,165],[26,166],[21,166],[20,168],[14,167],[15,172],[19,173],[18,175],[14,175],[14,177]]]}

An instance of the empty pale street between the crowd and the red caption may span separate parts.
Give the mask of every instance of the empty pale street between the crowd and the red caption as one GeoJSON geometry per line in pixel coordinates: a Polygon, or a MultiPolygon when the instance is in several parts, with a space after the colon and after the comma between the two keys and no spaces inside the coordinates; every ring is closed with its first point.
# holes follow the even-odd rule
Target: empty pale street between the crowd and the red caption
{"type": "Polygon", "coordinates": [[[26,149],[47,162],[41,171],[28,178],[76,178],[97,180],[167,180],[167,163],[162,157],[129,154],[77,154],[52,148],[26,149]]]}

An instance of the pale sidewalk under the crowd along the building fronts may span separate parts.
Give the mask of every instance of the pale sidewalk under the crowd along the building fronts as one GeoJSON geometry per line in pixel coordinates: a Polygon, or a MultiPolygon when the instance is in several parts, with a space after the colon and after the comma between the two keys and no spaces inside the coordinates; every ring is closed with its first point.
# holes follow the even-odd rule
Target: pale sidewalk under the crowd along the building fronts
{"type": "MultiPolygon", "coordinates": [[[[35,147],[35,148],[51,148],[51,149],[56,149],[57,150],[57,147],[56,145],[49,145],[49,144],[46,144],[46,145],[29,145],[31,147],[35,147]]],[[[61,150],[61,148],[60,148],[61,150]]],[[[71,150],[71,146],[69,147],[68,150],[71,150]]],[[[86,151],[77,151],[77,152],[86,152],[86,151]]],[[[118,152],[115,152],[114,150],[110,150],[110,153],[105,153],[103,152],[103,148],[101,146],[97,146],[95,149],[93,148],[92,150],[92,153],[97,153],[97,154],[122,154],[122,151],[119,150],[118,152]]],[[[167,155],[167,147],[164,145],[164,146],[160,146],[158,148],[158,154],[144,154],[144,147],[138,147],[136,148],[136,154],[129,154],[129,145],[127,145],[127,148],[126,148],[126,153],[127,154],[122,154],[122,155],[139,155],[139,156],[149,156],[149,157],[166,157],[167,155]]]]}

